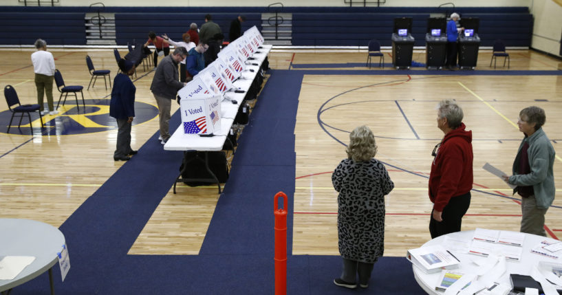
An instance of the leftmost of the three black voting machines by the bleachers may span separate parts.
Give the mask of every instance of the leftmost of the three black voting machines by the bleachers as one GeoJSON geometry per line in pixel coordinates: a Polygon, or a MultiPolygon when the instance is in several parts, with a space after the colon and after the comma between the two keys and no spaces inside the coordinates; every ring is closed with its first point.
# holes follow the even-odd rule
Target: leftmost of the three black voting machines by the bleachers
{"type": "Polygon", "coordinates": [[[392,32],[392,65],[396,69],[409,69],[412,64],[413,36],[412,18],[398,17],[394,19],[394,30],[392,32]],[[399,32],[404,32],[405,36],[400,36],[399,32]]]}

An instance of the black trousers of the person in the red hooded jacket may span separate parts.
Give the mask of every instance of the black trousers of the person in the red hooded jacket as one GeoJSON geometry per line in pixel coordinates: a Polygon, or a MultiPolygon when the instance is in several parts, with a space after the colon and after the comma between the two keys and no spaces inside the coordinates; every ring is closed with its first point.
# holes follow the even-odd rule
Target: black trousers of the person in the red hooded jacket
{"type": "Polygon", "coordinates": [[[468,206],[471,206],[471,192],[451,197],[441,213],[443,221],[433,219],[433,210],[431,210],[431,216],[429,217],[431,239],[451,232],[460,232],[462,217],[468,210],[468,206]]]}

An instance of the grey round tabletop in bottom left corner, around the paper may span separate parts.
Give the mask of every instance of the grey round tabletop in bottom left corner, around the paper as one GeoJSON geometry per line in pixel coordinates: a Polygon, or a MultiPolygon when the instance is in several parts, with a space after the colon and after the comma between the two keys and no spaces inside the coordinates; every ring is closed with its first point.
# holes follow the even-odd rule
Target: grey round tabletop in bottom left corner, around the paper
{"type": "Polygon", "coordinates": [[[43,274],[57,261],[63,250],[65,236],[47,223],[29,219],[0,218],[0,260],[3,256],[34,256],[14,279],[0,280],[0,292],[21,285],[43,274]]]}

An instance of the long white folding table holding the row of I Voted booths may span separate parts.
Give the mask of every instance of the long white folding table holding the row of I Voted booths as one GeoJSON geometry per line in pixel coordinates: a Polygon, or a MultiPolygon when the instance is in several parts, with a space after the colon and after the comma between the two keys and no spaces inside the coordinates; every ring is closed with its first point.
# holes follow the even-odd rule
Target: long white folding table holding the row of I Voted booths
{"type": "MultiPolygon", "coordinates": [[[[253,54],[252,60],[246,61],[246,69],[242,72],[241,77],[234,81],[233,86],[235,89],[231,89],[224,94],[225,99],[221,102],[221,129],[216,132],[211,137],[202,137],[197,134],[186,134],[182,124],[177,127],[175,132],[172,134],[171,138],[164,144],[164,149],[166,151],[221,151],[226,141],[226,136],[230,132],[230,128],[233,126],[234,119],[239,111],[242,101],[250,89],[253,80],[259,73],[261,64],[267,58],[269,52],[272,49],[272,45],[261,45],[258,52],[253,54]],[[252,65],[257,64],[257,65],[252,65]],[[253,71],[250,71],[250,69],[253,71]],[[244,93],[235,93],[234,90],[242,90],[244,93]],[[232,100],[237,103],[233,104],[232,100]]],[[[221,193],[221,185],[215,174],[210,171],[208,167],[207,153],[205,153],[205,165],[207,171],[214,179],[210,179],[217,183],[219,187],[219,193],[221,193]]],[[[184,163],[185,166],[185,163],[184,163]]],[[[177,177],[176,182],[173,186],[173,192],[175,193],[175,184],[180,181],[182,173],[177,177]]],[[[205,179],[208,180],[208,179],[205,179]]]]}

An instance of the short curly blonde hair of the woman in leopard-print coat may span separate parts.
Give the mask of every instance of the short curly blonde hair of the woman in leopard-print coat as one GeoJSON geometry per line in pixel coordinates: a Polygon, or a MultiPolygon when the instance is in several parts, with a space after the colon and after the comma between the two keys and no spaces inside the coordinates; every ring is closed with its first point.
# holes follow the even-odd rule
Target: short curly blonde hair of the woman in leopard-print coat
{"type": "Polygon", "coordinates": [[[369,127],[363,125],[356,127],[349,133],[349,146],[345,149],[347,157],[355,162],[371,160],[376,155],[377,146],[375,135],[369,127]]]}

